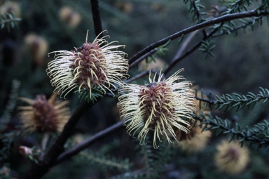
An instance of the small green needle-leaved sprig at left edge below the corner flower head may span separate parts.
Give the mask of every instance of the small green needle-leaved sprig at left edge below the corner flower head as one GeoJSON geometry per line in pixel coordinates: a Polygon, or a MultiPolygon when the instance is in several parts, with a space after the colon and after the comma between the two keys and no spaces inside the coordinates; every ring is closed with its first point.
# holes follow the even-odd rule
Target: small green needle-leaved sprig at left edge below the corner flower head
{"type": "Polygon", "coordinates": [[[1,29],[6,27],[8,29],[8,31],[10,31],[10,29],[14,28],[17,25],[17,23],[20,21],[21,21],[20,18],[14,18],[13,13],[6,13],[6,14],[1,13],[0,14],[1,29]]]}

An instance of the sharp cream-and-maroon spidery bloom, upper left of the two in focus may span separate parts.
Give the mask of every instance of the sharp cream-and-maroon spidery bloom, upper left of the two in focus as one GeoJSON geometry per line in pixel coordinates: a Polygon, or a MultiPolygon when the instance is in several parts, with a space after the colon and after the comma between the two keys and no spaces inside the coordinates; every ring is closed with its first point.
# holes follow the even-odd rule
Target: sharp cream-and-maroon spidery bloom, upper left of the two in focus
{"type": "Polygon", "coordinates": [[[86,42],[75,48],[75,51],[53,52],[55,60],[48,63],[47,72],[51,78],[50,83],[58,93],[67,95],[78,88],[79,93],[87,90],[91,96],[94,87],[99,87],[104,93],[106,90],[112,93],[110,86],[116,88],[114,84],[122,84],[120,78],[126,78],[128,71],[128,61],[124,58],[126,54],[111,49],[124,46],[113,46],[111,44],[116,41],[107,43],[105,37],[88,43],[87,35],[86,42]]]}

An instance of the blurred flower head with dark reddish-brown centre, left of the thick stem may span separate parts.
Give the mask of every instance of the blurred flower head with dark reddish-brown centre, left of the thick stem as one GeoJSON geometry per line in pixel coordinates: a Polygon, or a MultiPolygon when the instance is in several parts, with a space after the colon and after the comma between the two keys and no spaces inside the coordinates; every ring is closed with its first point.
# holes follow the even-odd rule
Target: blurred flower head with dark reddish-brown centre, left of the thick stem
{"type": "Polygon", "coordinates": [[[20,107],[20,118],[26,131],[39,131],[41,133],[55,133],[62,131],[67,123],[70,111],[68,101],[55,100],[54,93],[49,100],[45,95],[36,95],[34,100],[21,98],[29,106],[20,107]]]}

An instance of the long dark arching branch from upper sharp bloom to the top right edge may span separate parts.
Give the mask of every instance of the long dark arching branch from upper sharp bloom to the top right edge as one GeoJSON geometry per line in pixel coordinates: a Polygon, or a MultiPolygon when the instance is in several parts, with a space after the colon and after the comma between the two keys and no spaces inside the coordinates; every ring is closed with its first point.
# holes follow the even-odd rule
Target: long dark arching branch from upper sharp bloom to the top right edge
{"type": "Polygon", "coordinates": [[[148,53],[149,51],[152,51],[154,48],[157,48],[158,46],[162,46],[166,44],[167,41],[169,40],[174,40],[181,37],[182,34],[188,34],[188,33],[194,32],[195,30],[202,29],[210,25],[218,24],[221,22],[226,22],[229,20],[235,20],[239,18],[250,18],[250,17],[255,17],[255,16],[258,17],[261,15],[269,15],[269,13],[266,11],[260,11],[260,13],[258,13],[256,10],[252,10],[252,11],[247,11],[247,12],[242,12],[242,13],[233,13],[233,14],[223,15],[219,18],[214,18],[212,20],[207,20],[205,22],[202,22],[198,25],[193,25],[192,27],[188,27],[184,30],[181,30],[175,34],[170,35],[169,37],[166,37],[165,39],[157,41],[156,43],[151,44],[150,46],[147,46],[142,51],[139,51],[138,53],[133,55],[132,58],[130,58],[129,65],[132,65],[132,63],[135,62],[135,60],[142,57],[142,55],[148,53]]]}

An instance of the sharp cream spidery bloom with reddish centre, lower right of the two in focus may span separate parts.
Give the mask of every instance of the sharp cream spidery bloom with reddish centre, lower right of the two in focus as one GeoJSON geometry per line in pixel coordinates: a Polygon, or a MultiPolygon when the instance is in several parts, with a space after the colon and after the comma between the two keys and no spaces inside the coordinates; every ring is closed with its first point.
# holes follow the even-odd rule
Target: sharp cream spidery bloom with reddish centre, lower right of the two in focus
{"type": "MultiPolygon", "coordinates": [[[[179,72],[162,81],[163,74],[155,81],[156,74],[149,78],[149,84],[125,84],[120,90],[118,107],[127,124],[127,133],[135,135],[144,144],[149,131],[153,131],[153,147],[157,148],[156,139],[161,142],[160,135],[165,135],[168,142],[170,136],[176,139],[175,130],[189,132],[195,111],[194,93],[189,88],[190,81],[179,81],[184,77],[179,72]]],[[[176,139],[177,140],[177,139],[176,139]]]]}

